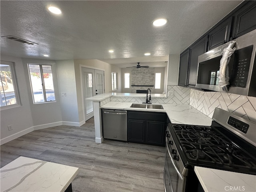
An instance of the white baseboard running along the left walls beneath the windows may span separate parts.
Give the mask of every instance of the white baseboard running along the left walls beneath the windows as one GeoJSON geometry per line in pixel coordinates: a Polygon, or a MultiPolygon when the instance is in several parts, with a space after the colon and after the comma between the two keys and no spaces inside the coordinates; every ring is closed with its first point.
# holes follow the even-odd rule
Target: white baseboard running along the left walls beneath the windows
{"type": "MultiPolygon", "coordinates": [[[[68,122],[68,121],[59,121],[59,122],[54,122],[54,123],[48,123],[48,124],[42,124],[42,125],[36,125],[36,126],[33,126],[33,127],[30,127],[30,128],[27,128],[25,130],[22,130],[18,133],[14,133],[10,136],[7,136],[5,138],[2,138],[0,139],[0,145],[2,144],[5,144],[9,141],[12,141],[16,138],[19,138],[27,133],[30,133],[32,131],[35,131],[35,130],[40,130],[40,129],[45,129],[45,128],[50,128],[50,127],[54,127],[54,126],[60,126],[60,125],[68,125],[68,126],[76,126],[76,127],[80,127],[82,126],[83,124],[85,124],[85,121],[81,121],[81,122],[68,122]]],[[[103,138],[102,138],[102,141],[103,141],[103,138]]],[[[100,142],[102,143],[102,142],[100,142]]]]}

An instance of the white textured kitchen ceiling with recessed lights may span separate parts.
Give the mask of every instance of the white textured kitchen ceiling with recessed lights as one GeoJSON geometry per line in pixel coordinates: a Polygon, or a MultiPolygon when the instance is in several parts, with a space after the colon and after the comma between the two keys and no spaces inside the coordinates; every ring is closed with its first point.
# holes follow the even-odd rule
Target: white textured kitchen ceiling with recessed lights
{"type": "Polygon", "coordinates": [[[99,59],[120,67],[152,61],[160,65],[169,54],[180,54],[241,2],[1,0],[1,36],[38,44],[1,38],[1,54],[41,59],[48,54],[50,60],[99,59]],[[49,5],[60,8],[62,14],[50,13],[49,5]],[[153,27],[152,21],[161,17],[168,19],[166,26],[153,27]],[[145,52],[151,56],[144,56],[145,52]]]}

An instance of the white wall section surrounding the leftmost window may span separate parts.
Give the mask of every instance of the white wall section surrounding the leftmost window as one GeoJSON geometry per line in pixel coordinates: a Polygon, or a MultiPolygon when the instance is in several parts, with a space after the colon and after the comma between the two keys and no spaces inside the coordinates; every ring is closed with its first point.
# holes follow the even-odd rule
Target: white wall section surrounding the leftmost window
{"type": "Polygon", "coordinates": [[[18,132],[22,132],[28,128],[31,128],[33,126],[33,120],[30,110],[30,97],[28,94],[28,89],[30,89],[30,86],[26,83],[24,72],[26,68],[23,67],[22,59],[17,57],[1,55],[1,60],[14,62],[14,69],[18,84],[18,92],[20,94],[21,101],[21,106],[1,110],[0,112],[0,139],[2,140],[3,138],[7,138],[9,136],[12,136],[13,134],[17,134],[18,132]],[[8,125],[12,125],[13,130],[8,131],[8,125]]]}

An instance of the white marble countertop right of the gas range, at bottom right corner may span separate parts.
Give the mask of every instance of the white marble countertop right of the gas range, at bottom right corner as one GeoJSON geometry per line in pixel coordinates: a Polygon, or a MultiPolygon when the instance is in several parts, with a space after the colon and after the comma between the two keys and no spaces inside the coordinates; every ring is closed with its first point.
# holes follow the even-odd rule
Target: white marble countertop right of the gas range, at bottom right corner
{"type": "Polygon", "coordinates": [[[205,192],[256,192],[256,175],[194,167],[205,192]]]}

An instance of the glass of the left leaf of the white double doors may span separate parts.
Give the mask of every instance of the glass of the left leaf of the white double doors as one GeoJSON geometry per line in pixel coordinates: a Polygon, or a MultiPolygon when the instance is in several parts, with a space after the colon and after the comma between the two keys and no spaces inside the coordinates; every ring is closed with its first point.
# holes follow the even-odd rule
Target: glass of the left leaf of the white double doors
{"type": "MultiPolygon", "coordinates": [[[[86,98],[92,97],[93,96],[93,90],[92,90],[92,73],[84,72],[84,77],[85,77],[85,96],[86,98]]],[[[86,114],[89,114],[93,112],[93,102],[85,100],[86,102],[86,114]]]]}

